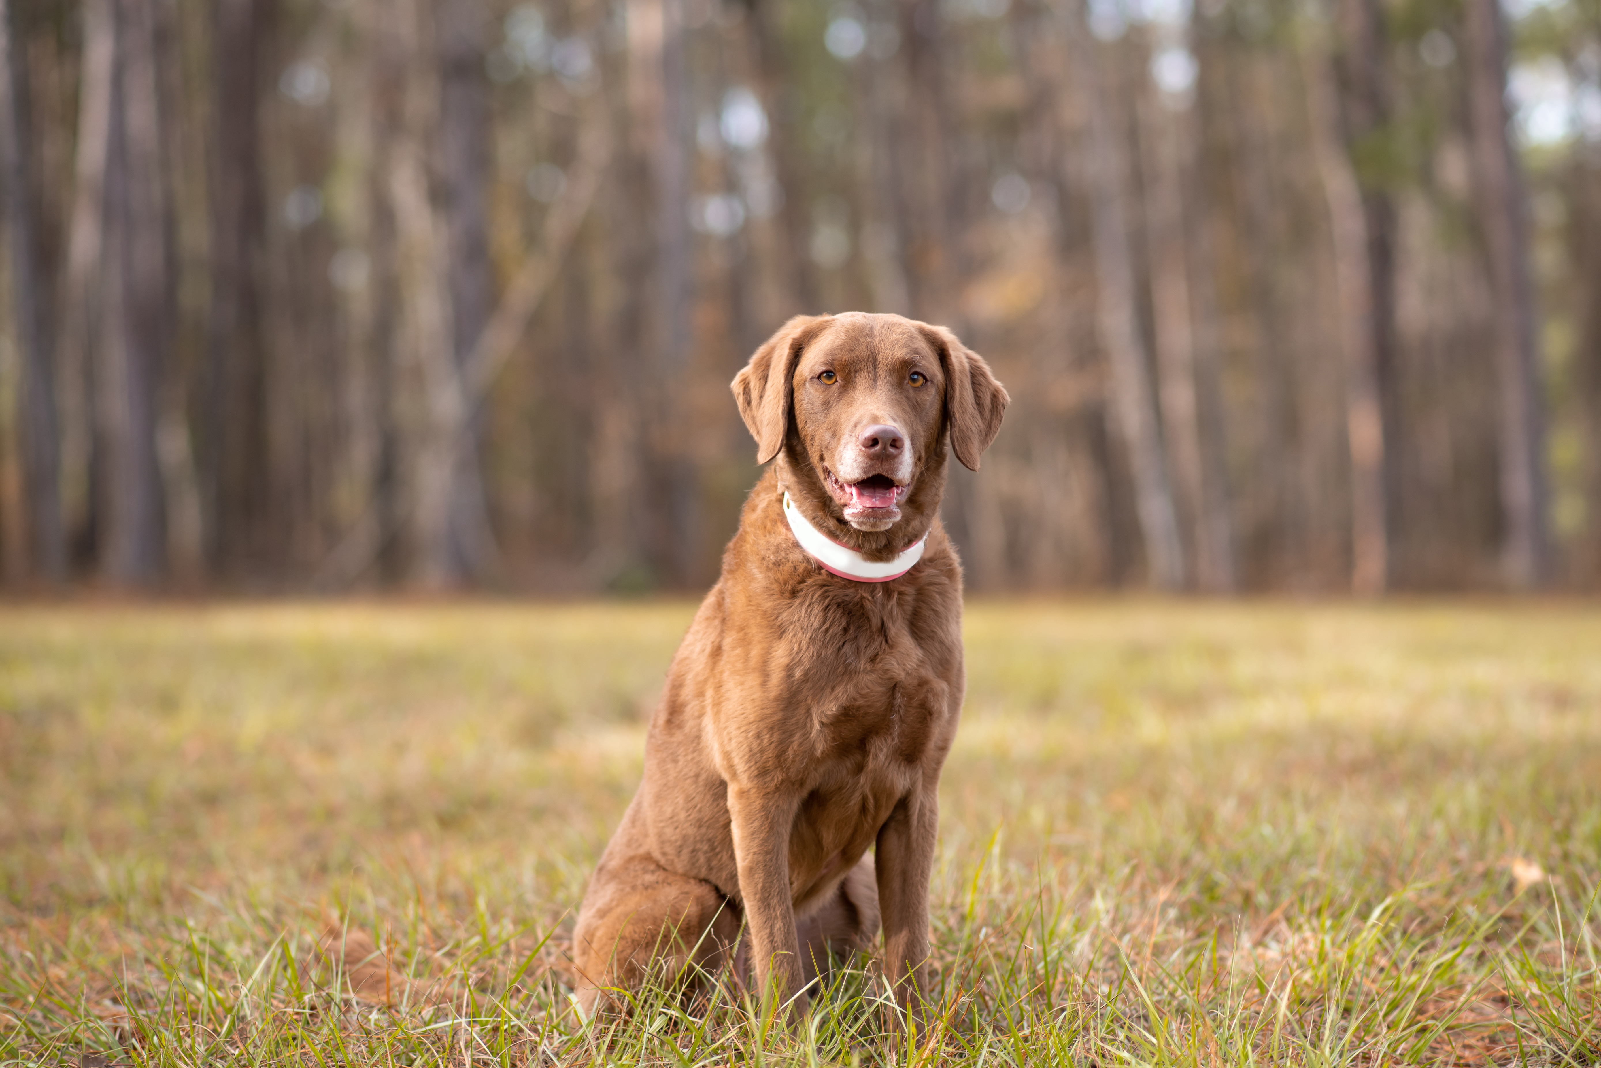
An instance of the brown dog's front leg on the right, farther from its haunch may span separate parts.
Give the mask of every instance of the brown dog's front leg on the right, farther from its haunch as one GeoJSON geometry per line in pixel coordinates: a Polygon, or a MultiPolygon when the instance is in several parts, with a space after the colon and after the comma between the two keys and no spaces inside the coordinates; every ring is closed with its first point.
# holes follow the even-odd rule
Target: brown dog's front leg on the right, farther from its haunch
{"type": "Polygon", "coordinates": [[[895,1001],[917,1030],[927,1020],[929,878],[938,828],[940,801],[932,788],[919,787],[895,804],[879,828],[874,857],[884,918],[884,970],[895,985],[895,1001]]]}

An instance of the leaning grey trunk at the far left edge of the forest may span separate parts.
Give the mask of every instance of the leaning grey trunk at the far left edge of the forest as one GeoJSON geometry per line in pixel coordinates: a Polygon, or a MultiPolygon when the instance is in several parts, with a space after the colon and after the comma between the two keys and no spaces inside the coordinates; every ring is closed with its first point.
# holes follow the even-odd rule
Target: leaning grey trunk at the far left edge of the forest
{"type": "Polygon", "coordinates": [[[61,582],[67,553],[61,528],[61,456],[56,436],[54,334],[38,254],[38,189],[34,176],[27,46],[16,0],[0,0],[0,173],[11,246],[11,315],[22,376],[18,390],[29,563],[37,577],[61,582]]]}

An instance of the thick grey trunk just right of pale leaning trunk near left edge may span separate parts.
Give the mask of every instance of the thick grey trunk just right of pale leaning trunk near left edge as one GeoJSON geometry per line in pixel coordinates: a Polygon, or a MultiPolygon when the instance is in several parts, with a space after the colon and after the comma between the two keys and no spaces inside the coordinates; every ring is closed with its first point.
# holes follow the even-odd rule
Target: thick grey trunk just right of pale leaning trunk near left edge
{"type": "Polygon", "coordinates": [[[165,505],[155,451],[171,264],[162,169],[154,13],[114,6],[115,72],[106,168],[106,241],[98,368],[106,537],[101,569],[117,585],[165,571],[165,505]]]}

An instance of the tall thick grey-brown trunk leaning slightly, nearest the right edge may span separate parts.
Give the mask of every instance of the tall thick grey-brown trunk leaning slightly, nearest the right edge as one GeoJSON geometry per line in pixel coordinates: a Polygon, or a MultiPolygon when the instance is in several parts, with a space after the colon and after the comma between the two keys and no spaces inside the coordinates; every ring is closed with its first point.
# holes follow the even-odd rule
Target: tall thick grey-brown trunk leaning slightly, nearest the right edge
{"type": "Polygon", "coordinates": [[[1502,566],[1516,588],[1548,576],[1545,411],[1523,169],[1507,115],[1507,26],[1497,0],[1467,0],[1465,62],[1478,198],[1500,384],[1502,566]]]}

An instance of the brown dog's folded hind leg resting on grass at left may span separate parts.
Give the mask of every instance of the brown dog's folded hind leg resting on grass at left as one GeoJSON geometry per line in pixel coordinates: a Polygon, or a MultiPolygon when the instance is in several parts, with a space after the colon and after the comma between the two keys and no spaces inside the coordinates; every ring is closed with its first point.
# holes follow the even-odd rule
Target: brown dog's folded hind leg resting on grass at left
{"type": "Polygon", "coordinates": [[[690,986],[724,966],[738,932],[738,908],[711,883],[668,871],[650,855],[607,855],[573,931],[578,1004],[592,1015],[626,1007],[647,980],[690,986]]]}

